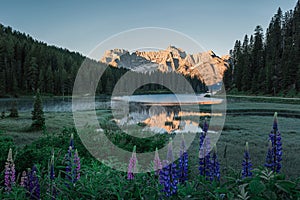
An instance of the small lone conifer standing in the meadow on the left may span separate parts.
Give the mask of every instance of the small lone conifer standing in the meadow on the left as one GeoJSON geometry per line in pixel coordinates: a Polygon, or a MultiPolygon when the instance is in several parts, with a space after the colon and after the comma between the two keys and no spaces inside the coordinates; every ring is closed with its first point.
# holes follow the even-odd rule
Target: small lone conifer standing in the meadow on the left
{"type": "Polygon", "coordinates": [[[45,117],[43,111],[42,99],[40,96],[39,89],[36,92],[36,97],[33,105],[32,124],[31,127],[34,129],[42,129],[45,126],[45,117]]]}

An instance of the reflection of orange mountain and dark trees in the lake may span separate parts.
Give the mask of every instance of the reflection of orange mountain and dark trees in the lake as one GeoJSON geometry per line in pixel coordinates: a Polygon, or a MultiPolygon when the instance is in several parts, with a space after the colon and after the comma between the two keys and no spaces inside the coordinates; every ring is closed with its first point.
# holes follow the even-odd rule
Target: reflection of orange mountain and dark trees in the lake
{"type": "MultiPolygon", "coordinates": [[[[201,104],[210,104],[208,101],[202,101],[201,104]],[[204,103],[205,102],[205,103],[204,103]]],[[[125,113],[125,104],[122,101],[116,101],[115,110],[121,112],[115,116],[115,121],[122,128],[130,128],[130,126],[138,125],[143,131],[151,131],[155,133],[187,133],[201,132],[199,127],[200,118],[209,116],[222,116],[222,113],[210,113],[209,109],[201,111],[199,104],[188,105],[182,107],[174,104],[165,104],[162,102],[130,102],[129,112],[125,113]],[[123,113],[123,112],[124,113],[123,113]]],[[[127,105],[128,106],[128,105],[127,105]]]]}

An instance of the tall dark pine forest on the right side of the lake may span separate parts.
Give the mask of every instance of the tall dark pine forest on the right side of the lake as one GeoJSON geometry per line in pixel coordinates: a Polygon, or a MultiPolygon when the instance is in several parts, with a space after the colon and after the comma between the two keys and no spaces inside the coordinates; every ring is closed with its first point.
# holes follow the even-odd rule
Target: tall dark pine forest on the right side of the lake
{"type": "Polygon", "coordinates": [[[285,13],[279,8],[265,34],[237,40],[225,72],[228,90],[252,94],[295,96],[300,93],[300,2],[285,13]]]}

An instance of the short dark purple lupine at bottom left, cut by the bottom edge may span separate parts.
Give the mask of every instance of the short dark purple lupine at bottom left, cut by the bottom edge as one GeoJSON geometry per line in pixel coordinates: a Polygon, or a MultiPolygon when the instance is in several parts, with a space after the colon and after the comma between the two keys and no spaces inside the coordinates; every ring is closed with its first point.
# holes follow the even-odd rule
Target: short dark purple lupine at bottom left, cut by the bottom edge
{"type": "Polygon", "coordinates": [[[37,176],[37,168],[34,165],[28,175],[28,184],[26,185],[28,190],[28,197],[30,199],[40,199],[40,184],[37,176]]]}

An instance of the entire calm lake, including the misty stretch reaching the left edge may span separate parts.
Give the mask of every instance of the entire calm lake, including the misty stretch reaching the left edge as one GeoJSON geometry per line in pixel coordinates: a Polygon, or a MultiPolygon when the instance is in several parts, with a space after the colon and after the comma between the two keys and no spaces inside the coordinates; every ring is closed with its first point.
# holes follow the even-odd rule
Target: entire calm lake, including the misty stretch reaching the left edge
{"type": "MultiPolygon", "coordinates": [[[[0,112],[8,112],[11,103],[17,101],[20,112],[30,112],[33,98],[0,99],[0,112]]],[[[138,125],[144,131],[159,133],[199,132],[199,121],[211,116],[210,105],[222,102],[204,95],[132,95],[108,98],[95,98],[96,109],[111,109],[114,121],[122,128],[138,125]],[[202,109],[202,108],[206,109],[202,109]]],[[[71,97],[43,99],[44,112],[72,112],[71,97]]],[[[81,110],[91,109],[91,105],[82,101],[81,110]]],[[[214,113],[213,115],[222,115],[214,113]]]]}

